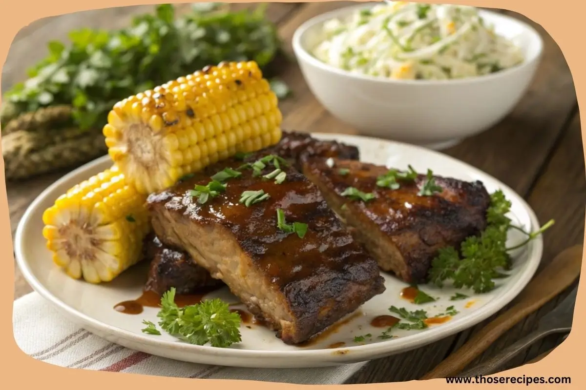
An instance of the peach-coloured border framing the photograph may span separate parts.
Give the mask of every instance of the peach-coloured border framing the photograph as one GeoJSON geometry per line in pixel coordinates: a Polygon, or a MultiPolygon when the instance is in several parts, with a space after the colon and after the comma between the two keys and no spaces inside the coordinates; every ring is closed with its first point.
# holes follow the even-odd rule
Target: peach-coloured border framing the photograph
{"type": "MultiPolygon", "coordinates": [[[[315,0],[319,1],[319,0],[315,0]]],[[[412,0],[415,1],[415,0],[412,0]]],[[[16,36],[16,33],[22,27],[28,25],[34,20],[46,16],[60,15],[76,11],[85,11],[87,9],[108,8],[111,6],[123,5],[144,5],[157,4],[160,1],[136,1],[136,0],[93,0],[93,1],[75,1],[75,0],[18,0],[11,2],[2,2],[0,4],[0,15],[2,25],[0,25],[0,60],[2,64],[6,61],[9,46],[16,36]]],[[[175,2],[175,1],[171,1],[175,2]]],[[[236,0],[234,2],[248,2],[236,0]]],[[[428,2],[441,3],[442,1],[429,0],[428,2]]],[[[448,2],[447,0],[443,2],[448,2]]],[[[489,8],[504,8],[510,11],[522,13],[537,23],[540,23],[544,29],[556,40],[564,53],[565,59],[570,66],[574,77],[574,84],[578,102],[586,101],[586,56],[582,47],[583,34],[580,27],[584,25],[582,15],[586,12],[584,2],[575,1],[569,4],[569,1],[560,4],[552,4],[547,1],[533,0],[474,0],[474,1],[449,1],[452,4],[466,4],[483,6],[489,8]],[[568,8],[569,6],[569,8],[568,8]],[[580,70],[581,69],[581,70],[580,70]]],[[[180,2],[179,2],[180,3],[180,2]]],[[[582,126],[582,140],[584,139],[584,126],[582,126]]],[[[4,161],[2,161],[2,170],[0,175],[4,177],[4,161]]],[[[4,180],[0,180],[4,185],[0,191],[0,219],[4,222],[0,225],[1,247],[4,257],[4,264],[12,268],[14,264],[12,254],[11,229],[8,214],[8,202],[6,200],[6,185],[4,180]]],[[[583,257],[582,257],[583,258],[583,257]]],[[[582,270],[586,270],[586,264],[582,265],[582,270]]],[[[77,388],[77,389],[103,389],[103,388],[127,388],[127,389],[152,389],[152,388],[180,388],[182,386],[197,386],[194,382],[188,381],[207,381],[199,385],[213,385],[217,389],[231,390],[235,386],[240,390],[263,390],[263,389],[285,389],[291,388],[288,384],[274,384],[268,382],[246,382],[246,381],[227,381],[212,379],[180,379],[166,377],[147,377],[137,374],[116,374],[111,372],[97,372],[86,370],[68,370],[67,368],[57,367],[54,365],[42,363],[24,354],[12,337],[11,308],[13,302],[13,269],[5,270],[4,283],[0,284],[0,308],[3,313],[0,323],[0,345],[4,352],[0,353],[2,371],[8,388],[18,389],[42,389],[42,388],[77,388]],[[68,372],[66,372],[68,371],[68,372]],[[238,382],[238,383],[231,383],[238,382]]],[[[586,302],[584,301],[584,288],[578,291],[576,303],[576,313],[586,312],[586,302]]],[[[546,377],[571,377],[571,385],[565,385],[564,388],[585,388],[586,382],[584,376],[583,353],[586,344],[586,326],[584,317],[574,316],[575,330],[568,336],[561,346],[556,348],[549,356],[538,363],[515,368],[513,370],[501,372],[499,375],[507,376],[546,376],[546,377]],[[580,330],[582,329],[582,330],[580,330]],[[581,385],[580,385],[581,384],[581,385]]],[[[392,386],[401,389],[447,389],[448,384],[444,379],[432,379],[432,383],[422,383],[418,381],[404,382],[393,384],[392,386]]],[[[370,385],[353,385],[356,388],[368,389],[388,389],[388,384],[370,384],[370,385]]],[[[454,386],[454,385],[452,385],[454,386]]],[[[490,385],[486,385],[490,386],[490,385]]],[[[492,385],[494,386],[494,385],[492,385]]],[[[522,385],[499,385],[498,388],[519,389],[522,385]]],[[[307,386],[308,388],[324,388],[324,386],[307,386]]],[[[339,386],[326,386],[339,388],[339,386]]]]}

